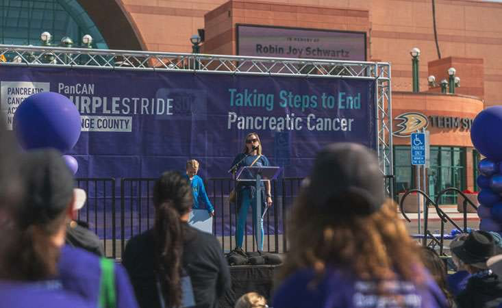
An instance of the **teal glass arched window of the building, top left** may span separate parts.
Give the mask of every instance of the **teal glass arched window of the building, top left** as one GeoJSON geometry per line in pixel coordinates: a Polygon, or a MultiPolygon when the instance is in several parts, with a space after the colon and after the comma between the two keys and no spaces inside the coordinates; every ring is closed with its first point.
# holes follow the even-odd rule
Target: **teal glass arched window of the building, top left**
{"type": "Polygon", "coordinates": [[[48,31],[52,44],[70,37],[73,47],[81,45],[85,34],[92,36],[92,47],[108,49],[103,36],[77,0],[0,1],[0,44],[40,45],[40,34],[48,31]]]}

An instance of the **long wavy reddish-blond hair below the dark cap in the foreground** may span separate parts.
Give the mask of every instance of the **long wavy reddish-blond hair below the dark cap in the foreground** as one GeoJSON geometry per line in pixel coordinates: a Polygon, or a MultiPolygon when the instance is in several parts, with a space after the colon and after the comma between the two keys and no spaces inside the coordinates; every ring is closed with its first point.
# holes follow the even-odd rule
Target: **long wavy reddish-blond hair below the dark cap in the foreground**
{"type": "Polygon", "coordinates": [[[338,207],[362,205],[357,200],[344,200],[339,203],[345,204],[321,207],[312,204],[304,192],[297,198],[288,222],[290,251],[281,266],[279,280],[301,268],[314,268],[320,277],[331,265],[347,269],[363,280],[399,277],[416,283],[423,281],[416,271],[421,264],[418,247],[399,219],[393,201],[367,216],[342,215],[338,207]]]}

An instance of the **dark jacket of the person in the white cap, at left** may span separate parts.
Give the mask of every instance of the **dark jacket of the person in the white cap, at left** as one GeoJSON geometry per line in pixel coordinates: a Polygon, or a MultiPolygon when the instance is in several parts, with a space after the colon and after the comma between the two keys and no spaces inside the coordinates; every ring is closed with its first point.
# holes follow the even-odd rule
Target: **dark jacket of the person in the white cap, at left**
{"type": "Polygon", "coordinates": [[[75,221],[66,224],[66,244],[104,257],[103,242],[99,240],[96,233],[83,226],[81,222],[75,221]]]}

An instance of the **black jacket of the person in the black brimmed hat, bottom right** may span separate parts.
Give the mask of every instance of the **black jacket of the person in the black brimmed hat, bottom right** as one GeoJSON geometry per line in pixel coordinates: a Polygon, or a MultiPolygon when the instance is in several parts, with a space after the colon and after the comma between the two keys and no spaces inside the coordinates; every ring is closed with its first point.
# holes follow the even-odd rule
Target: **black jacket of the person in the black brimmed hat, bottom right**
{"type": "Polygon", "coordinates": [[[464,291],[458,294],[457,305],[461,308],[499,307],[502,303],[502,281],[494,274],[473,275],[464,291]]]}

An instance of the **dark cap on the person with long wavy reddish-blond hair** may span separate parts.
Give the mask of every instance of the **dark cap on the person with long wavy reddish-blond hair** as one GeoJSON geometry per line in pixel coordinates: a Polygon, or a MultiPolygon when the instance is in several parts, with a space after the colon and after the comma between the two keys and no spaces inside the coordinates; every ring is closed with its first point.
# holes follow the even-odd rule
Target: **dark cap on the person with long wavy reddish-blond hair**
{"type": "Polygon", "coordinates": [[[321,150],[307,181],[312,203],[331,212],[368,215],[387,199],[377,155],[360,144],[340,142],[321,150]]]}

